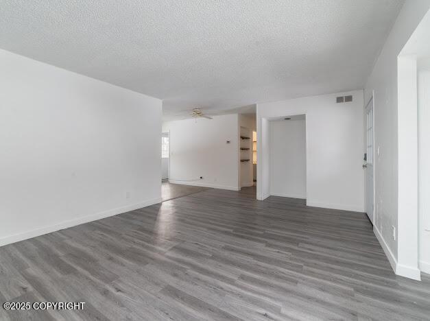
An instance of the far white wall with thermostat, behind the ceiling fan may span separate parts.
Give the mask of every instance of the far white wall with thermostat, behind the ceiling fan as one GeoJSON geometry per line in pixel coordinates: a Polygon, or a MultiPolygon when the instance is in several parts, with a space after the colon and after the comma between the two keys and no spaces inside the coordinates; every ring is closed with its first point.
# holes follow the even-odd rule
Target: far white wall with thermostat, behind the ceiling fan
{"type": "Polygon", "coordinates": [[[239,189],[237,114],[163,123],[163,132],[168,130],[171,182],[239,189]]]}

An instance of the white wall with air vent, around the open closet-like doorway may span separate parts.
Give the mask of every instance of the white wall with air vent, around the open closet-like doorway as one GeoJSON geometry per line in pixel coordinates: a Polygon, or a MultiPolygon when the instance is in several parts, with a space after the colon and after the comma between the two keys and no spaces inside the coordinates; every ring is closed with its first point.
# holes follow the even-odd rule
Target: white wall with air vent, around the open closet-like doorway
{"type": "MultiPolygon", "coordinates": [[[[267,119],[302,114],[307,129],[307,204],[363,212],[363,91],[258,104],[257,128],[264,129],[267,119]],[[353,95],[353,102],[336,104],[339,95],[353,95]]],[[[268,132],[259,130],[257,134],[260,141],[268,139],[268,132]]],[[[259,176],[270,167],[264,158],[270,143],[261,145],[259,176]]],[[[257,178],[257,189],[261,179],[267,180],[265,174],[257,178]]],[[[270,193],[268,188],[263,187],[263,195],[270,193]]]]}

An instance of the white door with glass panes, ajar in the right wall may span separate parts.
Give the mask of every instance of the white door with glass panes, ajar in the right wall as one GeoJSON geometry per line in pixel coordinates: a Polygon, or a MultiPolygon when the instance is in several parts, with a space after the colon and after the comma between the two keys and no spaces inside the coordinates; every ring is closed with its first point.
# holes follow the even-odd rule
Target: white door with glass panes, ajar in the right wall
{"type": "Polygon", "coordinates": [[[373,97],[366,106],[366,157],[363,168],[366,170],[366,214],[370,222],[374,224],[374,121],[373,121],[373,97]]]}

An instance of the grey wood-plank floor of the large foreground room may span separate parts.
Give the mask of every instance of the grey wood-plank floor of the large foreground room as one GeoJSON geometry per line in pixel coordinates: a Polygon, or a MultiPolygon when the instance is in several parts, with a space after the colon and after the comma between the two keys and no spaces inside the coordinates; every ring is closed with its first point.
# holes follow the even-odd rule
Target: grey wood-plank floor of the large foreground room
{"type": "Polygon", "coordinates": [[[361,213],[210,189],[0,248],[0,320],[430,320],[361,213]]]}

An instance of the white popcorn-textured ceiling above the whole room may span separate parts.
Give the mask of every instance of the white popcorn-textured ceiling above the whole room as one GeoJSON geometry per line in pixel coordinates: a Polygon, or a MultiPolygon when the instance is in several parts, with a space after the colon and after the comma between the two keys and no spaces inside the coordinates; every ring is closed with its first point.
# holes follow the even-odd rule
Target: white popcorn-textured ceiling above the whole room
{"type": "Polygon", "coordinates": [[[172,119],[363,88],[402,3],[2,0],[0,47],[162,98],[172,119]]]}

